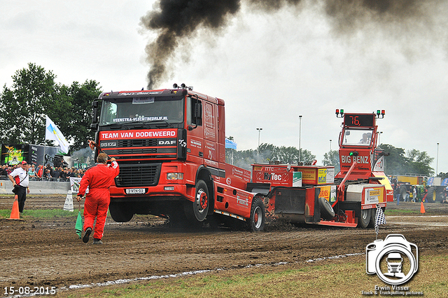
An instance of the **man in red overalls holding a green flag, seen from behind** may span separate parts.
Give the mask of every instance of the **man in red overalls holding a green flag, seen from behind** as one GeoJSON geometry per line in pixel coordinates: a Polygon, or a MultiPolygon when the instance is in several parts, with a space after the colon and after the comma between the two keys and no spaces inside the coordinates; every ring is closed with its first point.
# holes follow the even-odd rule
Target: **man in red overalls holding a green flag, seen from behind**
{"type": "Polygon", "coordinates": [[[102,244],[104,224],[106,224],[107,210],[111,203],[111,193],[109,187],[113,184],[113,179],[120,172],[115,158],[111,158],[111,165],[107,165],[107,155],[98,154],[97,165],[85,171],[81,179],[78,196],[79,202],[89,187],[89,193],[85,196],[84,203],[84,236],[83,242],[89,242],[90,233],[92,233],[93,222],[97,217],[97,224],[93,233],[93,244],[102,244]]]}

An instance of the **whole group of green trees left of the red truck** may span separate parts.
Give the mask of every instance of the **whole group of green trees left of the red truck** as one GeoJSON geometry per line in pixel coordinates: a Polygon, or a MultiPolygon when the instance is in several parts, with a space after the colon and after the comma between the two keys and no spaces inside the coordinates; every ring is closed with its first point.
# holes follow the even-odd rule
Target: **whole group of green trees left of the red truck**
{"type": "MultiPolygon", "coordinates": [[[[0,142],[3,144],[45,144],[45,115],[71,144],[70,151],[87,147],[93,140],[90,130],[91,103],[102,91],[99,83],[74,81],[66,86],[56,75],[29,63],[13,74],[13,85],[3,85],[0,93],[0,142]]],[[[70,153],[70,152],[69,152],[70,153]]]]}

